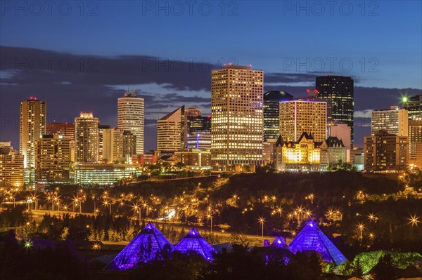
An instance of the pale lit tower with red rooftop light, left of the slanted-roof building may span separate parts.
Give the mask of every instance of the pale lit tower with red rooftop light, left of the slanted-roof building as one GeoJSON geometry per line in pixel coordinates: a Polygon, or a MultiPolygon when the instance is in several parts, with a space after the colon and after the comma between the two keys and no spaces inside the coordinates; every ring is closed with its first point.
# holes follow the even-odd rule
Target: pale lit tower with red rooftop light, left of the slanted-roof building
{"type": "Polygon", "coordinates": [[[143,154],[144,100],[135,93],[124,93],[117,100],[117,128],[136,135],[136,154],[143,154]]]}

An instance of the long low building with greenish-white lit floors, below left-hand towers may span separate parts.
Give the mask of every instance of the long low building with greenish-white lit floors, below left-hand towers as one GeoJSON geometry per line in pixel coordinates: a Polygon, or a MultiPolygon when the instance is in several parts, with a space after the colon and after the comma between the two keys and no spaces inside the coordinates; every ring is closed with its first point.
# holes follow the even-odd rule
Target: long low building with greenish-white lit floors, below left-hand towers
{"type": "Polygon", "coordinates": [[[113,185],[118,180],[138,175],[142,175],[142,171],[137,166],[127,164],[77,164],[75,166],[75,184],[77,185],[113,185]]]}

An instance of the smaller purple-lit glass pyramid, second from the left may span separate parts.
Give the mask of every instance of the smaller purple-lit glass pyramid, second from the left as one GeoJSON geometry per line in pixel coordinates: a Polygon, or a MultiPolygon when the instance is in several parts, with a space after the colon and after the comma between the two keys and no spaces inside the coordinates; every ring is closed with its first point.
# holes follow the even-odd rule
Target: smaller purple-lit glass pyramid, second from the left
{"type": "Polygon", "coordinates": [[[214,253],[214,248],[200,236],[196,229],[191,229],[191,231],[179,241],[174,249],[181,253],[194,251],[199,255],[202,255],[205,260],[213,260],[212,253],[214,253]]]}

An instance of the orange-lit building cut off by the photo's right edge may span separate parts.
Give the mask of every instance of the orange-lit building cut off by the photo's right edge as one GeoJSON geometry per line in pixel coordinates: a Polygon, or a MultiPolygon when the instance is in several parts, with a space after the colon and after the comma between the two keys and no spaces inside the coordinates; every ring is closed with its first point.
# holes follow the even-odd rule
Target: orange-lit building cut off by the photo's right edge
{"type": "Polygon", "coordinates": [[[422,168],[422,119],[409,119],[409,163],[422,168]]]}

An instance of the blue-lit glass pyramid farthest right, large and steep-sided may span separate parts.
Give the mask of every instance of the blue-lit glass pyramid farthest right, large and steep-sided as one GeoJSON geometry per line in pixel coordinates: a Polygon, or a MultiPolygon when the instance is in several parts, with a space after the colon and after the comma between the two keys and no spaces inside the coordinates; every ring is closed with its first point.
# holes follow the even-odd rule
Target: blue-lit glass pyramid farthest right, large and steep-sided
{"type": "Polygon", "coordinates": [[[300,251],[316,251],[326,262],[335,262],[336,265],[345,262],[345,256],[334,246],[328,237],[314,222],[309,221],[298,236],[289,244],[293,253],[300,251]]]}

